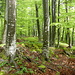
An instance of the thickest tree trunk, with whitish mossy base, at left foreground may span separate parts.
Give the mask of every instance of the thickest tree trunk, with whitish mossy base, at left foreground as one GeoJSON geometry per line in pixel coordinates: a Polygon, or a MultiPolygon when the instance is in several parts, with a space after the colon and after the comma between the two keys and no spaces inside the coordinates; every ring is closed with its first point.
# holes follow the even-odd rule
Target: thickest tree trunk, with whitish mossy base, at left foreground
{"type": "MultiPolygon", "coordinates": [[[[16,0],[6,0],[8,9],[7,33],[6,33],[6,54],[9,57],[9,63],[14,62],[16,53],[16,0]]],[[[16,67],[16,65],[15,65],[16,67]]]]}

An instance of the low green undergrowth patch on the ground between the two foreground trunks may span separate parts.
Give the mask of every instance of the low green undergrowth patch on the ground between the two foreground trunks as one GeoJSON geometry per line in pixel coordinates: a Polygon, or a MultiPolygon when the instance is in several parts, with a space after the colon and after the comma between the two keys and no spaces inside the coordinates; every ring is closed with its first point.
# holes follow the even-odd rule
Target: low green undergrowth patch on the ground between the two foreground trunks
{"type": "Polygon", "coordinates": [[[42,42],[38,42],[37,37],[28,37],[28,38],[21,38],[24,40],[23,42],[18,42],[17,44],[21,44],[22,46],[28,47],[31,49],[31,51],[37,51],[42,53],[42,42]]]}

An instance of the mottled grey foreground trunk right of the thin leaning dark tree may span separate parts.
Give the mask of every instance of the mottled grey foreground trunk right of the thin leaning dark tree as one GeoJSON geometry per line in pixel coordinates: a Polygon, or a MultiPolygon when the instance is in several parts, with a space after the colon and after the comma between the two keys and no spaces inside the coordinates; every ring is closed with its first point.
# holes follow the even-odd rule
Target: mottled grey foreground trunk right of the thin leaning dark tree
{"type": "Polygon", "coordinates": [[[49,58],[49,6],[48,0],[43,0],[43,14],[44,14],[44,31],[43,31],[43,55],[45,59],[49,58]]]}

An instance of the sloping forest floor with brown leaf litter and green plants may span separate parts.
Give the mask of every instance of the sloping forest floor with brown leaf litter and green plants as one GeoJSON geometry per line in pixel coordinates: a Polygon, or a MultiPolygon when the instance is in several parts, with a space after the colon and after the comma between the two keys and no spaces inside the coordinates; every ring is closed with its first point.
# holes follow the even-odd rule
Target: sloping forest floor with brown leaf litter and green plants
{"type": "Polygon", "coordinates": [[[24,41],[17,40],[18,50],[14,59],[17,69],[0,57],[0,75],[75,75],[75,58],[68,56],[64,49],[53,49],[46,61],[41,55],[41,43],[24,41]]]}

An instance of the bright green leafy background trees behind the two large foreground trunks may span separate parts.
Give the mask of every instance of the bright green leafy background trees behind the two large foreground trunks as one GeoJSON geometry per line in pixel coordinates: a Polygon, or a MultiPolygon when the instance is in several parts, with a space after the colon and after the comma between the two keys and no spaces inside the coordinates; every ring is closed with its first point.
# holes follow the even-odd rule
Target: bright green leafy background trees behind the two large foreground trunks
{"type": "MultiPolygon", "coordinates": [[[[43,41],[43,45],[46,44],[47,47],[48,44],[50,44],[50,47],[59,47],[60,42],[66,42],[69,46],[71,44],[74,45],[74,1],[49,0],[49,5],[46,7],[47,10],[44,9],[47,11],[46,19],[44,19],[45,14],[43,18],[43,13],[45,13],[43,8],[45,7],[43,7],[42,4],[43,2],[41,0],[17,0],[17,38],[38,36],[38,40],[43,41]],[[49,21],[46,22],[48,15],[50,18],[50,24],[49,21]],[[50,26],[50,28],[47,28],[47,31],[49,31],[47,33],[45,31],[45,26],[50,26]]],[[[3,37],[4,41],[5,35],[7,35],[5,34],[7,30],[7,22],[8,18],[10,17],[8,14],[10,13],[7,12],[8,3],[6,4],[6,10],[4,10],[5,0],[0,1],[0,5],[2,7],[0,10],[0,24],[3,25],[4,22],[4,27],[2,26],[2,29],[4,30],[0,29],[0,31],[3,31],[3,33],[1,32],[0,37],[3,37]]]]}

